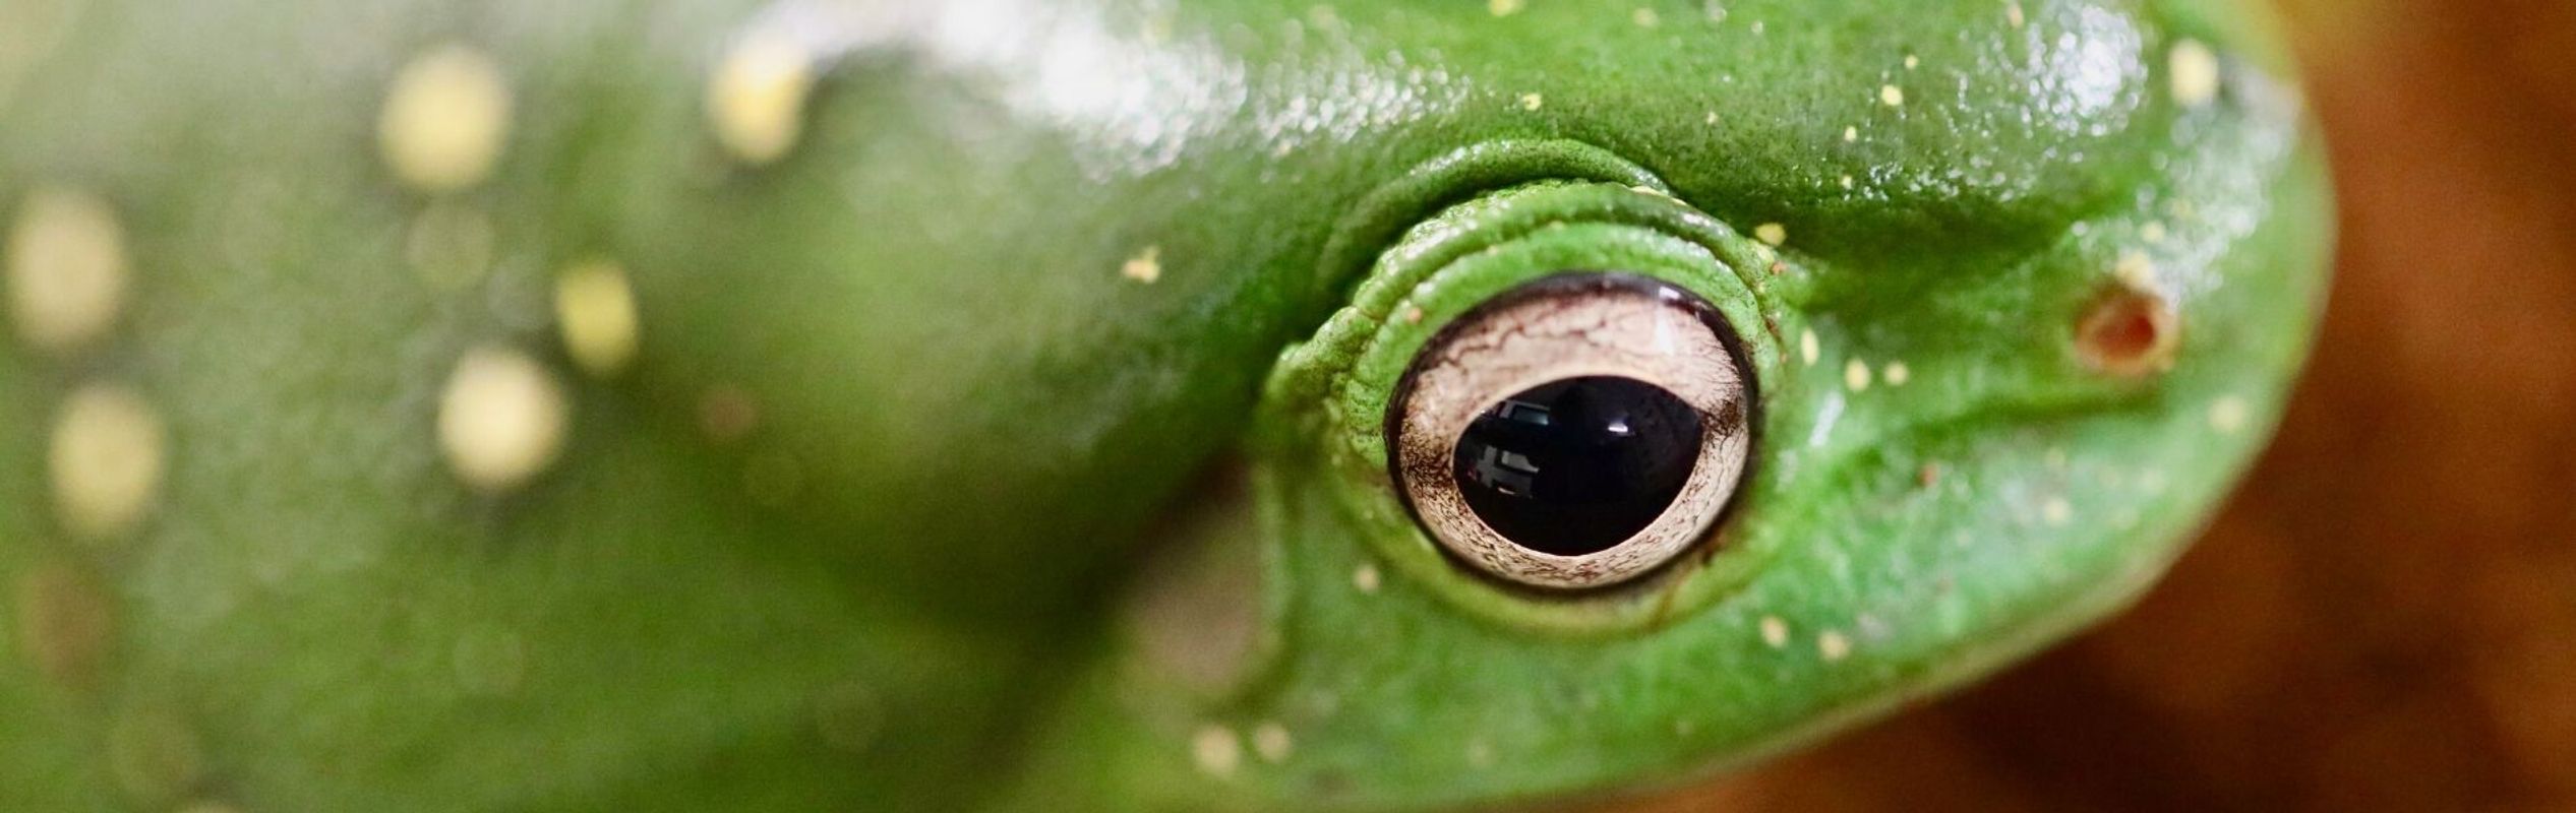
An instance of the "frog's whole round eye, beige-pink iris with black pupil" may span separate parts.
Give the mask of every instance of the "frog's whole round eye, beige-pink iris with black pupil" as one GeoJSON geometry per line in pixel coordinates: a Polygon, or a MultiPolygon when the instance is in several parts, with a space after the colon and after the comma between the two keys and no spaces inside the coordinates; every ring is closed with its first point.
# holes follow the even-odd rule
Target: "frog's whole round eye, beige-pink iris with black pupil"
{"type": "Polygon", "coordinates": [[[1504,581],[1636,579],[1708,535],[1752,453],[1752,388],[1718,309],[1579,273],[1450,322],[1388,409],[1396,491],[1453,558],[1504,581]]]}

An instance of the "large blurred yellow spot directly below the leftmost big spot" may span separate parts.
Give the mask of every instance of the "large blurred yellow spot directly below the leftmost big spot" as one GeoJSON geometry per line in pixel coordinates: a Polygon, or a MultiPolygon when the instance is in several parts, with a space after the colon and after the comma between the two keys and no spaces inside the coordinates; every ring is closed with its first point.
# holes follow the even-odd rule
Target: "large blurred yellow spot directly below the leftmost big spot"
{"type": "Polygon", "coordinates": [[[62,527],[88,540],[134,533],[160,491],[167,455],[160,414],[116,383],[62,399],[46,463],[62,527]]]}

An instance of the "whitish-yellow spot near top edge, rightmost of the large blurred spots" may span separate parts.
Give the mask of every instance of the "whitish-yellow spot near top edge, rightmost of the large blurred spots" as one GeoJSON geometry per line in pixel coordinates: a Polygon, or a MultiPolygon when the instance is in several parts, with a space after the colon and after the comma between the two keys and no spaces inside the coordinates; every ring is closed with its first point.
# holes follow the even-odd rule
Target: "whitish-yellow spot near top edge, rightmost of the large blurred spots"
{"type": "Polygon", "coordinates": [[[744,165],[768,165],[804,136],[806,95],[814,93],[814,54],[775,31],[734,41],[706,85],[706,121],[744,165]]]}

